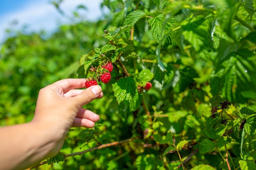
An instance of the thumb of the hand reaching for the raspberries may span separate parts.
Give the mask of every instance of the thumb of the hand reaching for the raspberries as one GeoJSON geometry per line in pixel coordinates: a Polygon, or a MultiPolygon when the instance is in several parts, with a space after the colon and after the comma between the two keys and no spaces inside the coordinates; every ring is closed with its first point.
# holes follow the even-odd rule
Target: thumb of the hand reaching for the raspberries
{"type": "Polygon", "coordinates": [[[102,91],[101,86],[99,85],[91,86],[85,89],[79,95],[75,96],[74,97],[75,102],[79,104],[79,106],[88,104],[92,102],[92,100],[102,97],[103,93],[101,91],[102,91]]]}

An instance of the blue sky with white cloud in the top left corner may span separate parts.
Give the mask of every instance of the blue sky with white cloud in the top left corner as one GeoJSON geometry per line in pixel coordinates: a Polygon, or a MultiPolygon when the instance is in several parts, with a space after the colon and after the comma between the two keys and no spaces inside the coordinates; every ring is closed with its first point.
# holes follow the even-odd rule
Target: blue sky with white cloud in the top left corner
{"type": "MultiPolygon", "coordinates": [[[[0,44],[7,38],[6,29],[26,31],[45,30],[53,32],[59,24],[70,23],[63,18],[51,0],[0,0],[0,44]],[[14,24],[16,23],[16,24],[14,24]]],[[[101,0],[64,0],[61,9],[67,16],[72,16],[78,5],[87,10],[79,10],[84,20],[97,20],[108,10],[100,9],[101,0]]]]}

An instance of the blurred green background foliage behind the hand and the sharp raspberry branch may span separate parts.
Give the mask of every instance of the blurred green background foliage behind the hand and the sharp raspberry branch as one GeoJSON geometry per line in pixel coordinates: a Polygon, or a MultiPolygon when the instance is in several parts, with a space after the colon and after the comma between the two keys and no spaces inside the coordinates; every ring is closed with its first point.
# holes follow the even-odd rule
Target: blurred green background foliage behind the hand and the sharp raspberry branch
{"type": "MultiPolygon", "coordinates": [[[[256,79],[252,76],[256,73],[255,56],[248,52],[250,50],[255,53],[256,48],[256,42],[253,39],[256,35],[256,18],[255,15],[250,16],[255,12],[255,0],[243,1],[244,6],[239,0],[234,0],[234,2],[216,0],[216,2],[207,1],[204,3],[193,0],[170,2],[167,0],[141,0],[141,4],[138,2],[136,0],[125,3],[119,0],[105,0],[104,4],[108,5],[112,12],[103,20],[61,25],[58,31],[49,38],[43,38],[45,37],[44,32],[27,35],[18,31],[15,32],[15,36],[8,38],[2,44],[0,51],[0,125],[21,124],[33,118],[40,88],[59,79],[76,78],[76,70],[81,65],[81,56],[90,53],[95,48],[109,44],[108,40],[102,36],[104,30],[113,26],[123,26],[125,17],[121,20],[118,16],[121,16],[125,9],[127,15],[138,8],[150,14],[150,18],[157,18],[159,13],[167,15],[168,12],[175,11],[176,8],[180,9],[179,5],[184,7],[175,13],[175,20],[178,23],[176,26],[177,28],[178,26],[182,27],[180,34],[183,37],[180,36],[179,41],[172,37],[172,42],[170,44],[166,42],[167,44],[163,45],[161,49],[161,60],[166,68],[164,74],[157,65],[159,59],[157,60],[156,51],[161,38],[157,38],[157,31],[150,30],[150,24],[152,26],[153,21],[144,17],[138,18],[136,24],[133,23],[135,55],[130,56],[131,58],[125,58],[124,64],[129,73],[136,72],[134,66],[137,66],[139,71],[147,68],[155,73],[155,77],[151,81],[153,88],[143,94],[150,114],[154,115],[152,117],[153,124],[148,121],[143,109],[140,109],[135,116],[135,112],[125,110],[125,104],[119,105],[117,103],[112,91],[112,84],[117,82],[116,77],[120,73],[114,69],[110,83],[100,84],[103,88],[104,97],[85,106],[87,109],[98,113],[101,119],[95,128],[73,128],[72,131],[68,132],[61,152],[70,154],[100,144],[137,137],[151,128],[157,132],[154,140],[144,136],[145,139],[94,150],[82,156],[67,157],[63,162],[43,165],[37,169],[174,169],[174,166],[180,165],[178,155],[173,153],[164,156],[164,151],[169,145],[168,143],[157,145],[159,142],[156,139],[157,137],[161,138],[159,141],[164,139],[168,130],[173,132],[177,143],[186,140],[193,141],[193,144],[180,150],[180,154],[184,158],[193,150],[200,148],[200,142],[211,139],[213,134],[217,135],[214,139],[216,144],[219,144],[218,141],[220,141],[218,137],[227,135],[228,139],[227,137],[221,139],[227,140],[225,146],[232,156],[232,169],[239,166],[238,161],[242,160],[239,153],[241,142],[239,143],[235,135],[228,134],[234,123],[230,121],[228,126],[220,125],[220,116],[218,120],[211,119],[209,111],[214,102],[217,105],[224,99],[232,99],[230,102],[237,103],[236,107],[229,109],[229,113],[234,117],[237,117],[243,106],[256,110],[255,97],[252,97],[255,94],[255,82],[246,83],[247,80],[236,77],[235,82],[240,85],[243,84],[239,90],[248,90],[252,93],[240,95],[238,91],[235,95],[230,95],[229,92],[235,88],[232,86],[230,88],[229,84],[229,78],[234,78],[232,77],[233,72],[224,69],[226,66],[232,68],[233,65],[230,62],[236,64],[237,60],[234,58],[242,57],[243,61],[249,62],[249,65],[246,63],[247,66],[252,66],[249,67],[251,69],[249,76],[251,77],[248,79],[256,79]],[[159,2],[158,5],[157,2],[159,2]],[[236,5],[239,4],[238,2],[240,3],[239,7],[236,5]],[[168,3],[173,3],[173,5],[168,3]],[[209,10],[213,10],[209,7],[216,4],[219,4],[216,15],[218,15],[220,27],[216,27],[214,32],[216,37],[212,42],[209,41],[209,35],[213,30],[209,30],[211,28],[207,23],[209,20],[202,16],[209,10]],[[203,7],[203,10],[199,7],[203,7]],[[203,13],[197,13],[197,10],[202,10],[203,13]],[[190,20],[190,13],[199,15],[199,17],[190,20]],[[234,19],[235,16],[242,18],[244,23],[234,19]],[[252,30],[249,30],[245,23],[252,30]],[[227,59],[226,54],[233,52],[235,57],[229,56],[230,59],[227,59]],[[175,77],[179,78],[176,79],[175,77]],[[240,81],[240,79],[242,80],[240,81]],[[161,80],[163,81],[161,82],[161,80]]],[[[177,29],[176,27],[170,28],[177,29]]],[[[237,63],[243,64],[243,62],[237,63]]],[[[236,73],[243,74],[244,70],[236,69],[235,71],[238,71],[236,73]]],[[[252,125],[252,131],[254,134],[255,125],[252,125]]],[[[244,149],[248,152],[254,149],[249,156],[250,160],[255,160],[256,148],[254,145],[256,141],[253,136],[248,135],[245,139],[249,143],[244,149]]],[[[222,145],[220,144],[220,146],[222,145]]],[[[199,164],[208,164],[217,169],[228,169],[225,161],[218,155],[221,152],[225,153],[223,146],[209,151],[202,151],[193,155],[188,168],[193,168],[199,164]]],[[[247,160],[247,158],[243,160],[247,160]]]]}

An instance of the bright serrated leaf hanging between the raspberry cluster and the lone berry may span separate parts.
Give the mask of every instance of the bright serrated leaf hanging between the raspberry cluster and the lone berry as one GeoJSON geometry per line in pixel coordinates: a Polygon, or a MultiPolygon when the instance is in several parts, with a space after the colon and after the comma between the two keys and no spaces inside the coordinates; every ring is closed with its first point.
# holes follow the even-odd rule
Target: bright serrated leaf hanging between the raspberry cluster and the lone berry
{"type": "Polygon", "coordinates": [[[141,95],[139,95],[135,81],[132,77],[123,77],[112,85],[114,96],[117,102],[124,102],[126,109],[135,111],[141,104],[141,95]]]}

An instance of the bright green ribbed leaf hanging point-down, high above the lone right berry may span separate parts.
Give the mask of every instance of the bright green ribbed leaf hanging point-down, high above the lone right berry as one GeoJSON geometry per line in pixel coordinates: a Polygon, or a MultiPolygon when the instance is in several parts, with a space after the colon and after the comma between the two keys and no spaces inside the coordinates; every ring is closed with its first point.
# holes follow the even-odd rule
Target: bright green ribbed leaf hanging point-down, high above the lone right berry
{"type": "Polygon", "coordinates": [[[148,19],[148,22],[150,24],[150,31],[152,32],[152,35],[155,37],[155,40],[159,43],[162,40],[163,37],[163,25],[164,20],[164,14],[157,15],[155,18],[148,19]]]}

